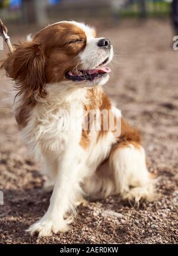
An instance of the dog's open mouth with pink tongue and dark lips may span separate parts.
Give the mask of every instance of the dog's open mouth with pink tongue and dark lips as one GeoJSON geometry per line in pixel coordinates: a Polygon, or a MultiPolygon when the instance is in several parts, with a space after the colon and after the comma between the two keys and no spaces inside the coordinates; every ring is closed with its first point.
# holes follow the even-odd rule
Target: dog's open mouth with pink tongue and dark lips
{"type": "MultiPolygon", "coordinates": [[[[101,64],[103,65],[103,63],[101,64]]],[[[110,73],[109,67],[103,67],[98,65],[98,67],[94,69],[88,70],[72,70],[65,74],[66,79],[72,80],[74,82],[80,82],[83,80],[93,81],[96,78],[104,77],[108,73],[110,73]]]]}

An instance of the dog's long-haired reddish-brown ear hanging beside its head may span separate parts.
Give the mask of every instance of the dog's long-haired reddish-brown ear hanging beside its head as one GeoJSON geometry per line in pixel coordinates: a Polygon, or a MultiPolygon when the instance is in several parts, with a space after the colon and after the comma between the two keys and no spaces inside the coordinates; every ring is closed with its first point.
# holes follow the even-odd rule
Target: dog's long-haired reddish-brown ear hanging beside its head
{"type": "Polygon", "coordinates": [[[1,67],[15,81],[18,94],[23,94],[25,98],[32,93],[45,96],[46,56],[39,43],[27,42],[16,46],[1,67]]]}

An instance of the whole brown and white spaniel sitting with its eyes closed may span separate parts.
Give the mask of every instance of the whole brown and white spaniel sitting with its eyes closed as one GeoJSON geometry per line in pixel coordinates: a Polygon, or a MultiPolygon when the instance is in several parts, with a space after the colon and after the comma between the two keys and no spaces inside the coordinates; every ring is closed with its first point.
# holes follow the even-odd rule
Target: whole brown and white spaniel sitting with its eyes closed
{"type": "MultiPolygon", "coordinates": [[[[15,117],[21,133],[53,187],[45,215],[28,231],[39,236],[68,230],[69,213],[81,195],[120,194],[136,202],[152,199],[153,186],[138,130],[121,118],[104,94],[113,47],[109,39],[75,21],[62,21],[21,43],[2,65],[18,90],[15,117]],[[71,115],[71,106],[75,114],[71,115]],[[112,113],[121,124],[93,129],[91,110],[112,113]],[[69,118],[70,116],[70,118],[69,118]],[[85,118],[87,116],[87,119],[85,118]],[[91,124],[84,129],[84,119],[91,124]],[[74,129],[71,129],[71,124],[74,129]],[[69,127],[70,126],[70,127],[69,127]]],[[[96,115],[95,115],[96,119],[96,115]]],[[[108,118],[106,118],[108,119],[108,118]]]]}

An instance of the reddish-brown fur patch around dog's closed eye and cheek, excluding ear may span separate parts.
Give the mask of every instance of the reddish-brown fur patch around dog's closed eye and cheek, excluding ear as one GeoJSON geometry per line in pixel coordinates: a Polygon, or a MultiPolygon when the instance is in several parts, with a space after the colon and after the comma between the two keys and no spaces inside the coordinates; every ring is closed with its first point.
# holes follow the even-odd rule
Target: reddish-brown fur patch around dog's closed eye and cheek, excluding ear
{"type": "Polygon", "coordinates": [[[47,57],[47,83],[66,79],[65,73],[77,65],[77,56],[85,48],[86,40],[84,30],[71,23],[54,24],[36,35],[34,41],[43,42],[47,57]]]}

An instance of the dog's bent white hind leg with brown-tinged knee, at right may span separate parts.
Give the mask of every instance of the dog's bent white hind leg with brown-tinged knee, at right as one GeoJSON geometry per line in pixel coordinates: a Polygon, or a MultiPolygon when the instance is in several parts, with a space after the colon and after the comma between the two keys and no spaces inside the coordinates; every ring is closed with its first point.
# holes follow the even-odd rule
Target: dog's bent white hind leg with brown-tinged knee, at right
{"type": "Polygon", "coordinates": [[[147,170],[144,148],[134,141],[120,142],[110,154],[110,168],[114,175],[115,191],[123,199],[135,201],[154,198],[154,186],[147,170]]]}

